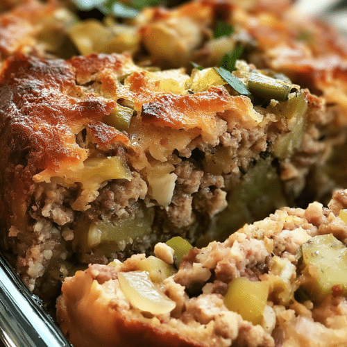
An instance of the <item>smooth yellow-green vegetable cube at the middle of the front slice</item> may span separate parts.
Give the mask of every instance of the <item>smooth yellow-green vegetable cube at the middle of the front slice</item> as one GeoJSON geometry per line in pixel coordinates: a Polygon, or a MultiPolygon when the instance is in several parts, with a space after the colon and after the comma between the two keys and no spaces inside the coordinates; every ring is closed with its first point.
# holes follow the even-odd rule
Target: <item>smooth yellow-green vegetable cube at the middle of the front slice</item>
{"type": "Polygon", "coordinates": [[[257,325],[262,322],[268,296],[268,282],[251,282],[239,277],[230,282],[224,303],[228,310],[237,312],[245,321],[257,325]]]}

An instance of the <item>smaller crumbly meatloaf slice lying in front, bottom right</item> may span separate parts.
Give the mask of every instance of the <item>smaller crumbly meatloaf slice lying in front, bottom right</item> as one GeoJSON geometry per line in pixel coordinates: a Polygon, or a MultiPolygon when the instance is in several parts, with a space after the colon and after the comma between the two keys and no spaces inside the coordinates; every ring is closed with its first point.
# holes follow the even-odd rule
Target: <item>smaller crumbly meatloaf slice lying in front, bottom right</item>
{"type": "Polygon", "coordinates": [[[282,208],[184,251],[178,271],[178,244],[90,265],[65,279],[58,321],[75,347],[347,346],[346,208],[343,190],[282,208]]]}

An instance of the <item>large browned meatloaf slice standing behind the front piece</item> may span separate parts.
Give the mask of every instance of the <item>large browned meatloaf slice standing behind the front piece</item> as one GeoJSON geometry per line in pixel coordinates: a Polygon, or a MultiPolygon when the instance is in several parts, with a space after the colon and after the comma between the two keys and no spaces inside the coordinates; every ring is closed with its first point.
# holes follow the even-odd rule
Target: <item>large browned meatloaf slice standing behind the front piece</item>
{"type": "Polygon", "coordinates": [[[212,68],[153,71],[126,54],[3,63],[1,244],[29,289],[51,295],[75,262],[173,235],[207,244],[294,204],[329,157],[331,117],[288,79],[236,67],[252,94],[212,68]]]}

